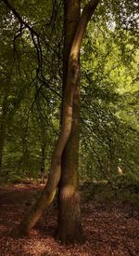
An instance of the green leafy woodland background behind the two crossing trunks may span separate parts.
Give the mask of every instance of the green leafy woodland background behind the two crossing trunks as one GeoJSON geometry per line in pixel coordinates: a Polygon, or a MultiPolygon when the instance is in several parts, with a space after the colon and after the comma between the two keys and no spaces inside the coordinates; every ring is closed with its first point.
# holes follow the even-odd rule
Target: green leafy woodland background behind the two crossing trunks
{"type": "MultiPolygon", "coordinates": [[[[10,1],[19,18],[7,3],[0,2],[0,183],[39,184],[60,128],[63,1],[10,1]]],[[[136,0],[101,1],[81,47],[83,202],[118,201],[131,218],[139,209],[137,33],[136,0]]]]}

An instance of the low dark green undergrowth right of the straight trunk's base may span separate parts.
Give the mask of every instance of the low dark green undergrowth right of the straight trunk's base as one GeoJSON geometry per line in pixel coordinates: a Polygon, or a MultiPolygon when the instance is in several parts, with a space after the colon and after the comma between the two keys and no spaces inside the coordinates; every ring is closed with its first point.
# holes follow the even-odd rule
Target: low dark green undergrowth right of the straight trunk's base
{"type": "Polygon", "coordinates": [[[111,178],[112,187],[106,180],[83,182],[81,185],[82,197],[85,201],[98,200],[107,202],[120,200],[124,205],[139,209],[139,177],[128,171],[126,174],[114,175],[111,178]]]}

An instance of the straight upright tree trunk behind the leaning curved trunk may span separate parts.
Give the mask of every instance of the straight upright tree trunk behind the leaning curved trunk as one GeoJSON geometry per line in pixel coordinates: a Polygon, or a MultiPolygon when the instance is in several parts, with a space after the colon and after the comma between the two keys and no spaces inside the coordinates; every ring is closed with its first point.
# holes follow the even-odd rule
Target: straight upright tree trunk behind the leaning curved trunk
{"type": "MultiPolygon", "coordinates": [[[[63,93],[67,86],[67,66],[70,47],[81,16],[81,0],[65,1],[65,34],[63,58],[63,93]]],[[[80,61],[80,60],[79,60],[80,61]]],[[[80,63],[78,62],[78,65],[80,63]]],[[[79,156],[79,103],[80,77],[77,80],[73,101],[72,128],[69,141],[64,149],[59,182],[57,239],[62,243],[82,242],[82,222],[78,179],[79,156]]]]}

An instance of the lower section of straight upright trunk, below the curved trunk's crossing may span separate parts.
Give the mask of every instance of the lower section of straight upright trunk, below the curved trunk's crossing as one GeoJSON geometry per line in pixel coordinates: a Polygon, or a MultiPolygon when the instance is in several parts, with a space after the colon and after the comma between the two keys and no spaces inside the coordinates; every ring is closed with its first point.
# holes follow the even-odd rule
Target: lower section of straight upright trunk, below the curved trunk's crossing
{"type": "MultiPolygon", "coordinates": [[[[78,90],[76,94],[74,101],[79,97],[78,90]]],[[[83,242],[78,179],[79,104],[75,106],[74,102],[73,111],[72,129],[62,155],[62,173],[59,182],[57,239],[64,244],[83,242]]]]}

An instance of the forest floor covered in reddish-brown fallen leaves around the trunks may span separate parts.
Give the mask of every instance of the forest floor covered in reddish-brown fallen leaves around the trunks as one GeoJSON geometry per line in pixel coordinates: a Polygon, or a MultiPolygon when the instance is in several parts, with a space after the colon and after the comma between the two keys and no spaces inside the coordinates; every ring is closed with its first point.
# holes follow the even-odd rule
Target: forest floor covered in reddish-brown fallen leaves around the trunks
{"type": "Polygon", "coordinates": [[[32,230],[30,237],[15,238],[15,229],[30,201],[43,185],[18,184],[0,187],[0,255],[139,255],[139,214],[120,202],[95,200],[82,203],[86,242],[62,246],[53,238],[57,228],[57,205],[53,204],[32,230]]]}

